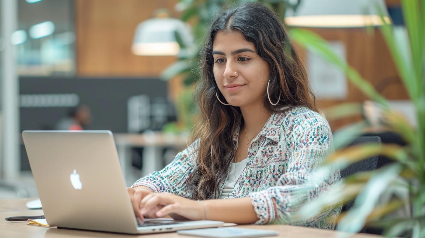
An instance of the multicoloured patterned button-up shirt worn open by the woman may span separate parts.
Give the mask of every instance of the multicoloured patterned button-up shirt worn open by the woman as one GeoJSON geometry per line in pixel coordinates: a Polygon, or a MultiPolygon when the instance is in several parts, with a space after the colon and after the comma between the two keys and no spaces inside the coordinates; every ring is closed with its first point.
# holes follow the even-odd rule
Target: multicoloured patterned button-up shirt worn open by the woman
{"type": "MultiPolygon", "coordinates": [[[[238,136],[239,131],[235,131],[233,139],[236,144],[238,136]]],[[[296,107],[270,116],[249,146],[246,169],[233,191],[234,198],[251,198],[259,218],[255,224],[334,229],[341,205],[329,207],[311,218],[300,219],[297,215],[303,204],[341,180],[338,169],[332,170],[324,179],[317,179],[312,173],[333,151],[331,141],[326,119],[308,108],[296,107]]],[[[193,142],[163,170],[140,178],[132,187],[146,186],[157,193],[168,192],[190,198],[192,191],[188,189],[187,181],[195,168],[198,143],[198,140],[193,142]]],[[[226,180],[227,177],[219,178],[219,194],[226,180]]]]}

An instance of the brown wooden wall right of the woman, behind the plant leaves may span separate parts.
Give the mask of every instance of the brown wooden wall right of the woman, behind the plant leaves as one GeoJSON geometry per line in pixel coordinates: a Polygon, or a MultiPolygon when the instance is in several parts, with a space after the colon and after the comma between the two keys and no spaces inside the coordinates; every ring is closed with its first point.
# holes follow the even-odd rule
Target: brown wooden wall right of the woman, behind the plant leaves
{"type": "MultiPolygon", "coordinates": [[[[365,28],[329,29],[307,28],[329,41],[340,41],[346,46],[347,62],[366,79],[387,99],[408,99],[408,94],[402,85],[397,69],[391,59],[385,40],[379,29],[375,28],[372,34],[365,28]]],[[[300,56],[306,62],[306,52],[297,47],[300,56]]],[[[308,68],[308,65],[306,65],[308,68]]],[[[348,79],[347,79],[348,80],[348,79]]],[[[353,84],[348,83],[348,95],[346,99],[318,99],[320,108],[329,108],[343,102],[363,102],[368,99],[353,84]]],[[[332,130],[344,125],[357,122],[361,116],[352,116],[346,119],[331,121],[332,130]]]]}

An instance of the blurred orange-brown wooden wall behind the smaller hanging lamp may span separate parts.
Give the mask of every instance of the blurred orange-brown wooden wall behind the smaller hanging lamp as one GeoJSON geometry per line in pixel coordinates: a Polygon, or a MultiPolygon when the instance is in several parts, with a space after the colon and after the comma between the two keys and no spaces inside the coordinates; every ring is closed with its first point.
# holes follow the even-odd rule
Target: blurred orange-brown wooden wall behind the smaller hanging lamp
{"type": "Polygon", "coordinates": [[[158,76],[175,57],[131,53],[136,26],[177,0],[76,0],[77,74],[81,77],[158,76]]]}

